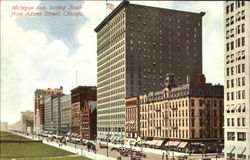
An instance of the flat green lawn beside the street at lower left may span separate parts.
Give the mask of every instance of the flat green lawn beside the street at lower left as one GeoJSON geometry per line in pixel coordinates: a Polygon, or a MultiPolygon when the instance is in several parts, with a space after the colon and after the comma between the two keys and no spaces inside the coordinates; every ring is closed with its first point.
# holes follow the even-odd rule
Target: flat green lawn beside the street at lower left
{"type": "Polygon", "coordinates": [[[39,141],[0,131],[1,160],[89,160],[39,141]]]}

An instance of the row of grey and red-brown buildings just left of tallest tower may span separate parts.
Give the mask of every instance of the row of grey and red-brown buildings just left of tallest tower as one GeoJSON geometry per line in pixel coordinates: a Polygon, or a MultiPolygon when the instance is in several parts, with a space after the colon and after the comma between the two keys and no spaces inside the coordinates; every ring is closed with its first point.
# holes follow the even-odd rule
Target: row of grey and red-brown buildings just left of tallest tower
{"type": "Polygon", "coordinates": [[[85,139],[96,137],[96,87],[78,86],[71,94],[63,88],[37,89],[34,105],[34,132],[66,135],[74,133],[85,139]],[[94,124],[94,125],[93,125],[94,124]]]}

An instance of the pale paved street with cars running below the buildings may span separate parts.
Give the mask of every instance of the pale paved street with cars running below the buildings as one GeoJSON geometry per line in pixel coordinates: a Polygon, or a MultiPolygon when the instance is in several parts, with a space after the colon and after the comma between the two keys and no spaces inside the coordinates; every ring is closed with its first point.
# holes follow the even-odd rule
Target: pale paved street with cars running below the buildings
{"type": "MultiPolygon", "coordinates": [[[[28,137],[28,138],[38,139],[38,137],[36,137],[36,136],[28,137]]],[[[67,143],[66,146],[59,145],[55,141],[48,142],[47,138],[43,138],[43,143],[57,147],[57,148],[61,148],[61,149],[64,149],[64,150],[67,150],[67,151],[70,151],[73,153],[76,153],[78,155],[82,155],[82,156],[91,158],[93,160],[117,160],[118,157],[121,157],[119,152],[110,150],[112,148],[112,146],[120,147],[121,145],[115,145],[112,143],[108,144],[108,146],[109,146],[108,151],[106,148],[101,149],[99,147],[99,145],[96,145],[96,147],[97,147],[96,153],[93,152],[92,150],[88,151],[86,145],[75,145],[73,143],[67,143]],[[107,154],[108,154],[108,156],[107,156],[107,154]]],[[[98,142],[97,142],[97,144],[98,144],[98,142]]],[[[130,148],[130,146],[124,146],[124,147],[130,148]]],[[[132,149],[139,150],[139,151],[143,150],[143,153],[146,154],[146,158],[143,158],[143,160],[167,160],[165,157],[166,151],[164,151],[164,150],[153,149],[153,148],[140,148],[140,147],[134,147],[134,146],[132,147],[132,149]]],[[[176,158],[177,156],[182,156],[182,155],[187,155],[187,154],[171,151],[171,152],[168,152],[168,155],[169,155],[168,158],[170,160],[173,158],[173,156],[176,158]]],[[[216,154],[207,154],[206,156],[204,156],[204,158],[211,158],[212,160],[216,160],[215,155],[216,154]]],[[[131,158],[130,157],[121,157],[121,159],[122,160],[130,160],[131,158]]],[[[188,155],[188,159],[189,160],[199,160],[199,159],[202,159],[202,155],[201,154],[188,155]]],[[[223,158],[217,158],[217,160],[223,160],[223,158]]]]}

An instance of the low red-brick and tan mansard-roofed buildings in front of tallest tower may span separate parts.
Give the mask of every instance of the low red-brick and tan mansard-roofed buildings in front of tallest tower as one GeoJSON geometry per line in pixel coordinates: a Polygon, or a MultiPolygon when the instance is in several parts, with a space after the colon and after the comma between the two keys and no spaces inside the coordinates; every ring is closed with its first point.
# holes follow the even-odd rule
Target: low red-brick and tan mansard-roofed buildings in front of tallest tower
{"type": "Polygon", "coordinates": [[[166,87],[125,99],[126,138],[154,139],[183,144],[181,148],[199,152],[219,152],[224,141],[223,86],[205,83],[174,83],[166,75],[166,87]]]}

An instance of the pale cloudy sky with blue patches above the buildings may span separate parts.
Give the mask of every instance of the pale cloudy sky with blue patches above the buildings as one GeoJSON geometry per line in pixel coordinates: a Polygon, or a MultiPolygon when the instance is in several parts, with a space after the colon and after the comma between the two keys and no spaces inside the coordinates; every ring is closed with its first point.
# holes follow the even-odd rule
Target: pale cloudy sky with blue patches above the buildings
{"type": "MultiPolygon", "coordinates": [[[[109,1],[116,6],[121,1],[109,1]]],[[[34,108],[36,89],[96,85],[96,33],[105,18],[105,1],[1,1],[1,121],[14,123],[34,108]],[[12,16],[13,5],[82,5],[84,16],[12,16]]],[[[203,73],[224,84],[223,1],[130,1],[130,3],[206,12],[203,17],[203,73]]],[[[107,13],[111,12],[108,9],[107,13]]]]}

